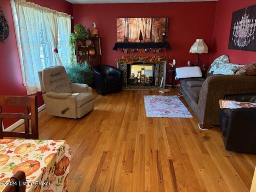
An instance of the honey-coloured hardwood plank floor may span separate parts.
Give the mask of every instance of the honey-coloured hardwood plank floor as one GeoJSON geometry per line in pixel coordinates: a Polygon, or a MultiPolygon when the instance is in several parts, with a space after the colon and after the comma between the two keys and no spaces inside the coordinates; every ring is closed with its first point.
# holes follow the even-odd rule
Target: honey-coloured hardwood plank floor
{"type": "Polygon", "coordinates": [[[220,128],[199,130],[189,107],[194,118],[147,118],[144,95],[160,94],[94,91],[95,108],[81,119],[39,113],[39,138],[70,145],[68,192],[250,191],[256,155],[226,151],[220,128]]]}

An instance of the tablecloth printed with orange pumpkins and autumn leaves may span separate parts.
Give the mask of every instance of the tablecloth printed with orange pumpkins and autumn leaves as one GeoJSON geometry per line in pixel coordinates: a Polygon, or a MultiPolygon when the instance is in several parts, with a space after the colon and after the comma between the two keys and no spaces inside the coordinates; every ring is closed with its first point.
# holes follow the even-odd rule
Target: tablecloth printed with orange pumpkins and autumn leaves
{"type": "Polygon", "coordinates": [[[66,192],[70,160],[64,140],[0,139],[0,192],[18,170],[26,192],[66,192]]]}

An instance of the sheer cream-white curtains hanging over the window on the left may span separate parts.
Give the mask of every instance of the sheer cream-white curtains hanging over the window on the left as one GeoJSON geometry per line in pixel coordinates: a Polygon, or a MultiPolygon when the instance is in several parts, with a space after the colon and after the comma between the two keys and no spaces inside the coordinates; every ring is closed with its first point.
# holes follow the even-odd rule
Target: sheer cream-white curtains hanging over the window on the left
{"type": "Polygon", "coordinates": [[[20,49],[20,63],[24,84],[28,95],[35,94],[37,91],[41,91],[38,71],[43,69],[40,58],[40,30],[42,29],[42,24],[44,23],[46,26],[46,33],[54,52],[53,65],[62,65],[62,60],[60,60],[58,54],[58,38],[65,42],[59,46],[60,50],[63,49],[63,53],[66,54],[64,59],[70,60],[69,46],[66,42],[68,42],[71,31],[71,16],[25,0],[11,0],[10,2],[13,13],[16,10],[18,18],[16,38],[17,41],[20,40],[18,49],[20,49]],[[60,36],[58,36],[58,26],[61,26],[60,36]]]}

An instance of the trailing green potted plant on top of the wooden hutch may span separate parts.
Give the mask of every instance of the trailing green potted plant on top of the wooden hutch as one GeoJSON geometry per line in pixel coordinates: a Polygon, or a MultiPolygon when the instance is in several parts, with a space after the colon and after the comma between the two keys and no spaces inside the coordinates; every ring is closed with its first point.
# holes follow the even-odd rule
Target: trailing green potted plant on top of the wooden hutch
{"type": "Polygon", "coordinates": [[[90,30],[86,29],[82,24],[76,24],[74,26],[74,33],[70,34],[69,38],[69,46],[70,46],[70,60],[71,64],[75,63],[75,42],[76,39],[85,39],[88,38],[90,34],[90,30]]]}

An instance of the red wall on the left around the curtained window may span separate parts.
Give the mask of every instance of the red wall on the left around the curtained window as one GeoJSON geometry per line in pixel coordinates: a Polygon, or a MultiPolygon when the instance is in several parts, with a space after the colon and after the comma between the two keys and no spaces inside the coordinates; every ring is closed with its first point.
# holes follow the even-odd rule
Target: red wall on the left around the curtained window
{"type": "MultiPolygon", "coordinates": [[[[73,13],[72,4],[65,0],[30,0],[30,2],[68,14],[73,13]]],[[[26,88],[22,82],[10,0],[1,0],[0,7],[10,28],[10,34],[6,42],[0,42],[0,95],[27,95],[26,88]]],[[[38,96],[38,106],[42,106],[44,102],[41,92],[36,95],[38,96]]],[[[10,126],[12,122],[4,121],[4,127],[10,126]]]]}

